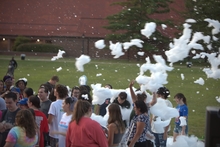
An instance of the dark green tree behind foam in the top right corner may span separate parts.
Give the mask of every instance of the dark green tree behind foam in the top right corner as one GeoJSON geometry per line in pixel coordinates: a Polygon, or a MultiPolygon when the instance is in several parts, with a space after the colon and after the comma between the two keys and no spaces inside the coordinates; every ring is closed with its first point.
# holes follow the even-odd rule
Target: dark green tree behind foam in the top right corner
{"type": "MultiPolygon", "coordinates": [[[[185,14],[186,18],[192,18],[196,20],[196,23],[191,24],[193,32],[202,32],[204,35],[211,36],[212,50],[208,49],[204,44],[205,52],[218,52],[220,47],[219,40],[213,39],[212,29],[213,27],[208,27],[208,22],[204,21],[206,18],[220,21],[220,1],[219,0],[186,0],[186,8],[188,11],[185,14]]],[[[214,35],[216,38],[220,39],[220,33],[214,35]]]]}

